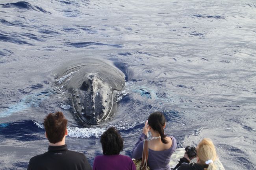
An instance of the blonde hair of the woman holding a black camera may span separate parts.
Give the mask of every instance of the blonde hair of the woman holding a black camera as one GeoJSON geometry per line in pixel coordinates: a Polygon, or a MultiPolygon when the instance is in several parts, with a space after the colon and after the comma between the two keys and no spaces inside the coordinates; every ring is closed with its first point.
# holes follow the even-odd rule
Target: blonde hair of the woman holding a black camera
{"type": "Polygon", "coordinates": [[[206,164],[205,162],[208,160],[212,160],[213,162],[217,158],[217,153],[215,150],[215,146],[211,139],[204,138],[197,146],[197,156],[200,160],[200,164],[204,166],[204,170],[216,170],[216,167],[213,163],[206,164]]]}

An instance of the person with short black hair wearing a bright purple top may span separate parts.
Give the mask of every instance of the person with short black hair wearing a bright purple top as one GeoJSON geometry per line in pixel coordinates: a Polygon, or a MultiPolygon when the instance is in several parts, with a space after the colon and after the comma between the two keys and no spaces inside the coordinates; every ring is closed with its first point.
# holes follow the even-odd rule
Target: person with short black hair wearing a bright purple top
{"type": "Polygon", "coordinates": [[[108,128],[100,137],[103,155],[96,156],[93,170],[136,170],[132,159],[120,155],[124,146],[122,137],[114,127],[108,128]]]}

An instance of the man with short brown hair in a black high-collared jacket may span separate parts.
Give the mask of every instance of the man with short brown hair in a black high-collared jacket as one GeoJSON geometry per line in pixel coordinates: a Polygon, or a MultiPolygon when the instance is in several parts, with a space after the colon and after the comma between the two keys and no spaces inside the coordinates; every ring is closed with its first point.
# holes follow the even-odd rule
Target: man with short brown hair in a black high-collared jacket
{"type": "Polygon", "coordinates": [[[48,152],[30,159],[28,170],[91,170],[84,154],[70,151],[65,144],[67,119],[62,112],[45,117],[45,136],[50,144],[48,152]]]}

